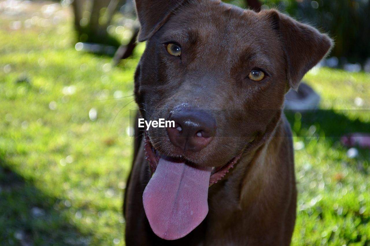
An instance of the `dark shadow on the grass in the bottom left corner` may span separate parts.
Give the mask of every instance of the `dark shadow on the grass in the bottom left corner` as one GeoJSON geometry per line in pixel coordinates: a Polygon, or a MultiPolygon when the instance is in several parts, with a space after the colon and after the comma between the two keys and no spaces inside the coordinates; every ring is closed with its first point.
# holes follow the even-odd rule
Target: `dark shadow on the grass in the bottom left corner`
{"type": "Polygon", "coordinates": [[[89,236],[63,215],[68,206],[61,208],[60,199],[45,195],[7,166],[0,157],[1,245],[88,245],[89,236]]]}

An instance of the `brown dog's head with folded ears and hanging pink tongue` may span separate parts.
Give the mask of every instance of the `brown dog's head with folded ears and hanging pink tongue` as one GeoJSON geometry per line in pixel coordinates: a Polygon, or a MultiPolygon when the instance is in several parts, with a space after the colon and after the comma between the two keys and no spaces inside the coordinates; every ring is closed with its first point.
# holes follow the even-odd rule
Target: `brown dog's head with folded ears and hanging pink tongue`
{"type": "Polygon", "coordinates": [[[136,0],[136,8],[138,39],[147,43],[135,74],[135,100],[145,119],[175,122],[147,131],[155,176],[144,207],[154,232],[176,239],[208,212],[199,202],[206,203],[208,184],[243,151],[269,139],[285,93],[298,87],[332,43],[276,10],[255,13],[213,0],[136,0]],[[164,202],[160,190],[172,201],[164,202]]]}

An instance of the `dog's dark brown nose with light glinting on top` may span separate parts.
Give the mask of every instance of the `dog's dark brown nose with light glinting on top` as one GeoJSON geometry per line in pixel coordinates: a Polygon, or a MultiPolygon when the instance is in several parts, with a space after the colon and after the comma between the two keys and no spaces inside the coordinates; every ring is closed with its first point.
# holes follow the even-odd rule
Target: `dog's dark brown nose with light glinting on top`
{"type": "Polygon", "coordinates": [[[168,120],[175,122],[175,127],[167,128],[170,141],[184,151],[201,151],[216,133],[215,118],[203,109],[176,107],[168,120]]]}

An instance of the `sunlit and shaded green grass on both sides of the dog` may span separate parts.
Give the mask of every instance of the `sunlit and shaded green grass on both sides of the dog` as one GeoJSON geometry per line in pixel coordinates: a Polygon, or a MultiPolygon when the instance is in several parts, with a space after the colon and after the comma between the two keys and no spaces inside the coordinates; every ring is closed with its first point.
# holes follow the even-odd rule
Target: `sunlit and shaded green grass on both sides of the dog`
{"type": "MultiPolygon", "coordinates": [[[[0,10],[1,245],[124,245],[128,111],[143,47],[111,67],[109,57],[75,51],[68,8],[26,28],[42,4],[18,16],[0,10]]],[[[348,158],[339,142],[370,131],[370,75],[325,68],[305,80],[323,110],[287,112],[299,190],[292,245],[370,245],[370,151],[348,158]]]]}

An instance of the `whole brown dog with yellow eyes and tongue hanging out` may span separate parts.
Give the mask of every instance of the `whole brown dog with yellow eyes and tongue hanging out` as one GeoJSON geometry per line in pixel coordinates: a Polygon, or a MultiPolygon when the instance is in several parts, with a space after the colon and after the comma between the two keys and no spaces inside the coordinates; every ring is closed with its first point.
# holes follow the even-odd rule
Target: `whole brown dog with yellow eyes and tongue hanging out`
{"type": "Polygon", "coordinates": [[[141,131],[135,144],[127,245],[289,245],[296,186],[284,95],[330,38],[275,10],[217,0],[136,8],[147,44],[135,100],[145,120],[175,125],[141,131]]]}

